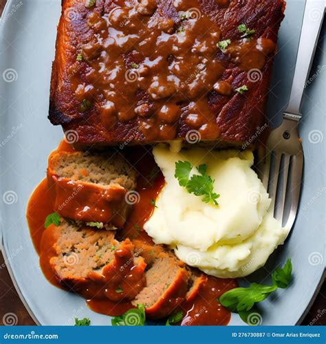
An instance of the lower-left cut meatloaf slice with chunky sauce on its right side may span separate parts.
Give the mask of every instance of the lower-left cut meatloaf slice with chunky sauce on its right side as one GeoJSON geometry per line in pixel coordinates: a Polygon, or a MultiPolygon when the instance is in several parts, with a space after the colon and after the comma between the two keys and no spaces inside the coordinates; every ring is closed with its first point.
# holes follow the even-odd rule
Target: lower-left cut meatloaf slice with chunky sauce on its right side
{"type": "Polygon", "coordinates": [[[131,300],[146,284],[142,257],[133,257],[129,239],[112,230],[79,228],[63,222],[50,265],[63,286],[87,298],[131,300]]]}

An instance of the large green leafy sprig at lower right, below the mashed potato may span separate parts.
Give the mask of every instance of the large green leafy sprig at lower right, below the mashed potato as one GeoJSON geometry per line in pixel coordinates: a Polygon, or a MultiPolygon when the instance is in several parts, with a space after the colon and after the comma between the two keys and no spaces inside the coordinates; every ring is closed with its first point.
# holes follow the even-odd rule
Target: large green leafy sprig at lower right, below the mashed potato
{"type": "Polygon", "coordinates": [[[231,312],[237,312],[241,319],[246,319],[248,311],[252,310],[255,303],[263,301],[277,288],[287,288],[291,281],[292,264],[291,259],[287,259],[283,268],[276,268],[272,272],[272,286],[263,286],[258,283],[250,283],[247,288],[235,288],[225,292],[219,303],[228,308],[231,312]]]}

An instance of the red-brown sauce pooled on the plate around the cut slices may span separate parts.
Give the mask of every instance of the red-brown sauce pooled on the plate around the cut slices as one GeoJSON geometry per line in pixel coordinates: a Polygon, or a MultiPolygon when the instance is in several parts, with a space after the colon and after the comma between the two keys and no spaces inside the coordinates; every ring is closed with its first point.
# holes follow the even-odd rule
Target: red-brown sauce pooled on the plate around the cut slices
{"type": "MultiPolygon", "coordinates": [[[[63,142],[59,145],[57,150],[72,151],[72,148],[63,142]]],[[[155,199],[164,186],[164,177],[157,168],[151,153],[145,152],[146,149],[135,147],[130,154],[130,160],[134,163],[137,162],[136,169],[138,169],[140,173],[138,179],[140,202],[133,205],[131,214],[127,219],[127,224],[122,230],[119,230],[117,234],[122,238],[137,238],[137,240],[153,244],[151,237],[144,232],[142,226],[153,213],[155,199]]],[[[50,266],[50,258],[56,255],[53,245],[59,233],[54,225],[49,226],[47,229],[44,228],[45,218],[50,213],[53,213],[53,191],[53,186],[48,186],[46,179],[36,187],[28,203],[27,218],[30,227],[30,235],[34,247],[40,255],[40,265],[45,277],[54,286],[63,288],[63,286],[58,283],[58,279],[50,266]]],[[[121,252],[119,251],[116,253],[118,268],[124,266],[126,259],[131,259],[129,253],[130,251],[128,250],[121,250],[121,252]]],[[[104,275],[109,278],[111,272],[116,274],[117,266],[109,267],[104,275]]],[[[142,279],[140,278],[142,271],[136,271],[137,269],[133,264],[127,264],[127,270],[126,274],[123,273],[124,276],[128,275],[130,277],[130,280],[126,281],[126,283],[131,286],[135,284],[135,289],[137,289],[138,286],[142,288],[142,279]]],[[[106,277],[104,276],[103,278],[106,277]]],[[[121,279],[118,282],[121,285],[121,279]]],[[[125,292],[128,291],[127,284],[126,286],[122,286],[122,290],[125,292]]],[[[92,283],[78,286],[78,294],[87,298],[87,305],[91,310],[101,314],[117,316],[133,308],[133,305],[129,301],[121,301],[119,298],[115,302],[107,299],[107,293],[113,298],[112,293],[114,289],[116,289],[116,286],[112,288],[104,288],[103,286],[105,286],[105,283],[99,281],[98,276],[94,277],[92,283]]],[[[197,296],[188,303],[182,304],[184,319],[182,319],[180,325],[226,325],[230,320],[230,312],[215,301],[215,299],[226,290],[235,288],[236,286],[237,282],[235,280],[208,277],[208,281],[200,287],[197,296]]]]}

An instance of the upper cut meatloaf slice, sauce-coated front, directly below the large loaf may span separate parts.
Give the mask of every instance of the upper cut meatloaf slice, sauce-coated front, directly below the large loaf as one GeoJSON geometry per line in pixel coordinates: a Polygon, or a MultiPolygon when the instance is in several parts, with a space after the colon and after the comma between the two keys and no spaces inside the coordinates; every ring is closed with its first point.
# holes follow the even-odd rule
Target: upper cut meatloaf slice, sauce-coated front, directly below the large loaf
{"type": "Polygon", "coordinates": [[[47,179],[56,192],[54,211],[76,221],[120,228],[137,196],[135,170],[118,153],[53,153],[47,179]]]}

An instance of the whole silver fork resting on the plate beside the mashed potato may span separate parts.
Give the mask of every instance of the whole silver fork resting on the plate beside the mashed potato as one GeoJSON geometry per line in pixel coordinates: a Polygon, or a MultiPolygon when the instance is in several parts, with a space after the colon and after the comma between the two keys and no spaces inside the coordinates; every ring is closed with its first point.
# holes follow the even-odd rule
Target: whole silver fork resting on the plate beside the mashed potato
{"type": "Polygon", "coordinates": [[[324,12],[324,1],[306,1],[290,100],[282,124],[270,131],[265,150],[258,153],[257,172],[272,199],[270,211],[289,230],[296,218],[303,174],[303,147],[298,134],[300,106],[324,12]],[[318,15],[317,20],[313,13],[318,15]]]}

